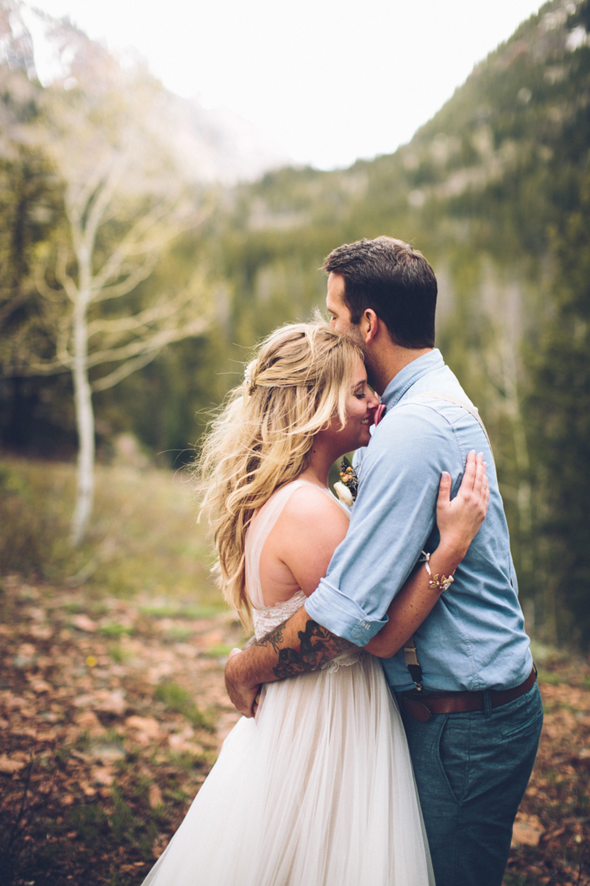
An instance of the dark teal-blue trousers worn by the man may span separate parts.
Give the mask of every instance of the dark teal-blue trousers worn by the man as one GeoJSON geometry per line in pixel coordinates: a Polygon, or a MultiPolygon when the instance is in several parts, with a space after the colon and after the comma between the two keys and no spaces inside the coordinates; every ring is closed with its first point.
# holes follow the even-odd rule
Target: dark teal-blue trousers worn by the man
{"type": "Polygon", "coordinates": [[[486,711],[403,710],[436,886],[501,886],[543,724],[539,686],[486,711]]]}

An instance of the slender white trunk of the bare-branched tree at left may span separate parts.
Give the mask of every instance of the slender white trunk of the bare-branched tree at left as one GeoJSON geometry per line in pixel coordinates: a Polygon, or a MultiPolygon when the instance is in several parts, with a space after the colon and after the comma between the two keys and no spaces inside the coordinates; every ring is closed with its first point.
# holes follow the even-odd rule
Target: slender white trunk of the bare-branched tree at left
{"type": "Polygon", "coordinates": [[[80,544],[86,534],[95,494],[95,416],[88,380],[87,292],[80,291],[73,309],[72,376],[78,431],[76,505],[72,518],[73,545],[80,544]]]}

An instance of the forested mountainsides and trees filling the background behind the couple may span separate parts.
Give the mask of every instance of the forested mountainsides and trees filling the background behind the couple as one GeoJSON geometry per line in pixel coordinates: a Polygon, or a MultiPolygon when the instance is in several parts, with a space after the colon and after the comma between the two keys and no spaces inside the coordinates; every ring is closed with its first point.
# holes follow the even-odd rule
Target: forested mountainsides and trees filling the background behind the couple
{"type": "MultiPolygon", "coordinates": [[[[18,15],[1,0],[4,453],[75,461],[85,292],[97,461],[133,433],[178,467],[252,346],[322,308],[326,254],[400,237],[433,265],[437,346],[492,439],[527,625],[586,649],[590,0],[544,4],[395,153],[231,184],[188,175],[174,97],[67,23],[67,76],[43,87],[18,15]]],[[[393,86],[387,113],[406,101],[393,86]]],[[[0,485],[19,494],[10,471],[0,485]]]]}

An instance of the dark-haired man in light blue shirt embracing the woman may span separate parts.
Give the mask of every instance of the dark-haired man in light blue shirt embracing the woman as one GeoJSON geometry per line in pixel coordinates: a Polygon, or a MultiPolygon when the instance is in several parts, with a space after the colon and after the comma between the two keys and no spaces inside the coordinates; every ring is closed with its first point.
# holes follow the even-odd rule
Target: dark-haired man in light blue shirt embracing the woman
{"type": "Polygon", "coordinates": [[[349,532],[326,579],[272,637],[230,658],[227,689],[252,716],[260,683],[315,670],[370,641],[421,551],[436,547],[441,472],[456,492],[468,452],[482,451],[487,517],[414,634],[415,649],[383,665],[402,711],[437,886],[500,886],[542,708],[494,457],[477,410],[433,347],[437,286],[424,256],[378,237],[335,249],[324,268],[331,324],[363,349],[387,411],[364,452],[349,532]]]}

